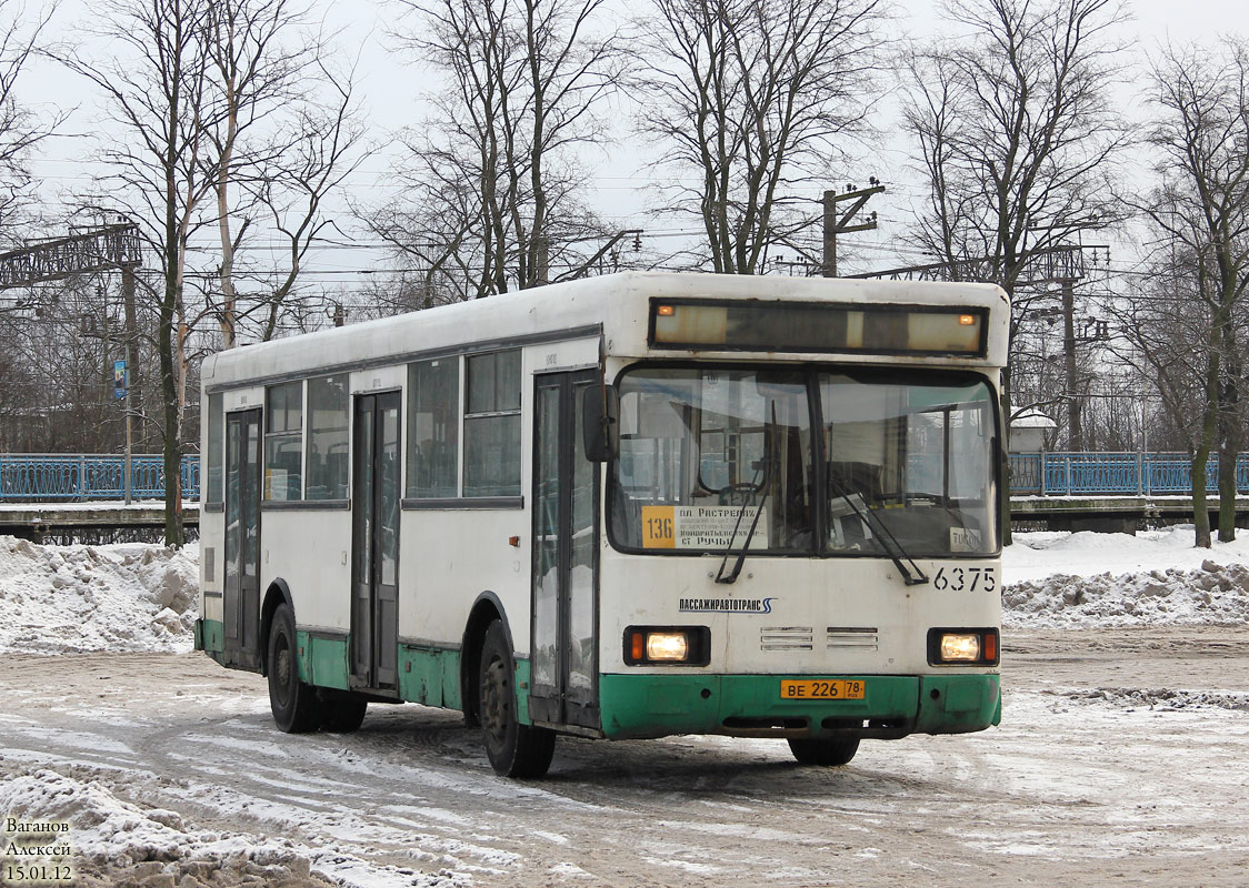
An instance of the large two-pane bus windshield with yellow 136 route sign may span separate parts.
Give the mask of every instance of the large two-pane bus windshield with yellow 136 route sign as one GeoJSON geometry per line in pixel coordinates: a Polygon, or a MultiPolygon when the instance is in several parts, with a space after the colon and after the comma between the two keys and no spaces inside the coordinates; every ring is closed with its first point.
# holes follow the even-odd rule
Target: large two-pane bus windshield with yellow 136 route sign
{"type": "Polygon", "coordinates": [[[989,385],[968,373],[637,367],[608,504],[627,551],[997,550],[989,385]]]}

